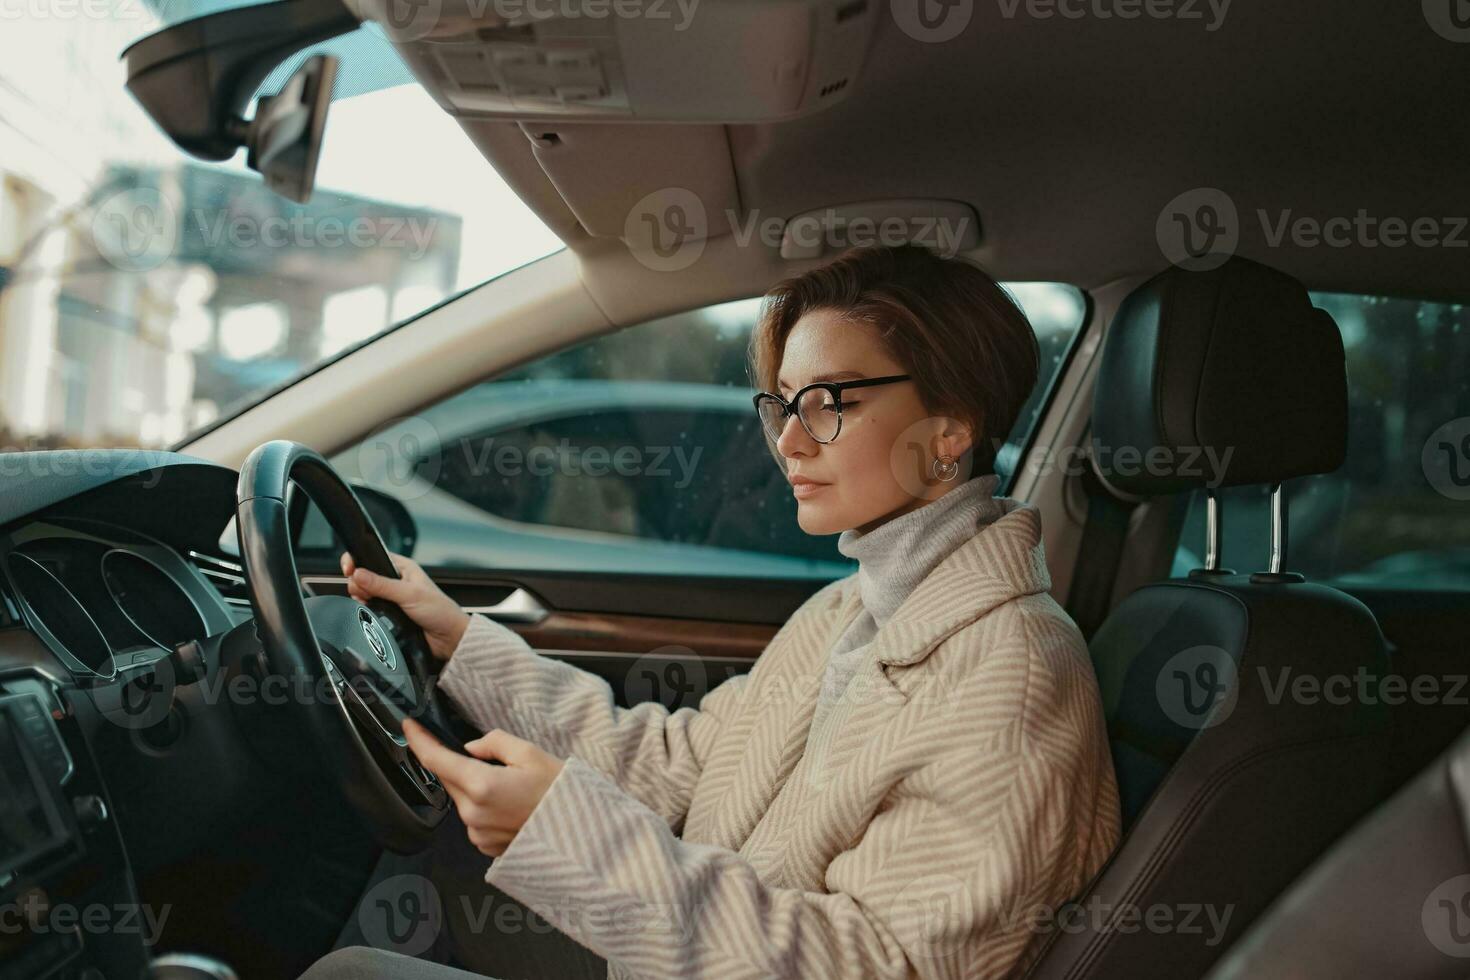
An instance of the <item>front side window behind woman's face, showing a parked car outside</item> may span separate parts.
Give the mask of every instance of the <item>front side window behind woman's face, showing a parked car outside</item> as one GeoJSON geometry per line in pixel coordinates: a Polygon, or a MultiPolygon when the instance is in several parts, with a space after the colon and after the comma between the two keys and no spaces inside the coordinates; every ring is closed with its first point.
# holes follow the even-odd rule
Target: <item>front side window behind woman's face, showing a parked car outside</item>
{"type": "MultiPolygon", "coordinates": [[[[1085,316],[1072,287],[1010,287],[1041,379],[1001,453],[1003,478],[1085,316]]],[[[609,334],[453,395],[340,454],[401,500],[431,566],[832,579],[836,536],[797,526],[751,407],[745,354],[760,300],[609,334]]]]}

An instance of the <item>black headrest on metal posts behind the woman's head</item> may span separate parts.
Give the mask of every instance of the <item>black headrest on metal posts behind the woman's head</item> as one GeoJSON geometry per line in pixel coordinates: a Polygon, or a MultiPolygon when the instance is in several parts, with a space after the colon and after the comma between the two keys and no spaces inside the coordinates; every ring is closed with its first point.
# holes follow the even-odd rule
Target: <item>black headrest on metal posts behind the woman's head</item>
{"type": "Polygon", "coordinates": [[[1342,336],[1307,288],[1247,259],[1169,269],[1102,345],[1092,453],[1139,497],[1327,473],[1348,441],[1342,336]]]}

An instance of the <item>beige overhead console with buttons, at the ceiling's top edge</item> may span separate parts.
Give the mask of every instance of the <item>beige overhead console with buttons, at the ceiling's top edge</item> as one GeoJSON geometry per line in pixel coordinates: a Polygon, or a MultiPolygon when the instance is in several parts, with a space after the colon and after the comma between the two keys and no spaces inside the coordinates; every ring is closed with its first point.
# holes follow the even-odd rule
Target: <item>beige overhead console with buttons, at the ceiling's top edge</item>
{"type": "Polygon", "coordinates": [[[842,100],[879,0],[345,0],[456,116],[769,122],[842,100]],[[394,16],[397,15],[397,16],[394,16]]]}

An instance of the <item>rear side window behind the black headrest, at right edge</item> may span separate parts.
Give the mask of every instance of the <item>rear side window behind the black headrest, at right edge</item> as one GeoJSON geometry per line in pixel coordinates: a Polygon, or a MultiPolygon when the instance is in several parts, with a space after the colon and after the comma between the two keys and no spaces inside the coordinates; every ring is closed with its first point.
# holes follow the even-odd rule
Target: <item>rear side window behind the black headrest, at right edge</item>
{"type": "MultiPolygon", "coordinates": [[[[1470,310],[1313,294],[1342,331],[1348,454],[1335,473],[1289,480],[1288,566],[1338,586],[1470,589],[1470,310]]],[[[1175,574],[1202,564],[1202,491],[1175,574]]],[[[1219,494],[1223,563],[1266,567],[1269,488],[1219,494]]]]}

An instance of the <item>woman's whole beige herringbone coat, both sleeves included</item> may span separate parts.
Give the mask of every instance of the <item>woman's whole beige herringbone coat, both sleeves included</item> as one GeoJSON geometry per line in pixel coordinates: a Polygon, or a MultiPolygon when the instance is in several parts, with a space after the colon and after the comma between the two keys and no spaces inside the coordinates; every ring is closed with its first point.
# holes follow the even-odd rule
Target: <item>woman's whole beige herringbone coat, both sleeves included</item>
{"type": "Polygon", "coordinates": [[[1097,682],[1048,588],[1041,517],[1005,500],[878,632],[820,757],[807,730],[857,576],[672,714],[616,708],[603,680],[476,617],[445,689],[567,758],[487,880],[614,976],[1011,974],[1038,909],[1119,837],[1097,682]]]}

